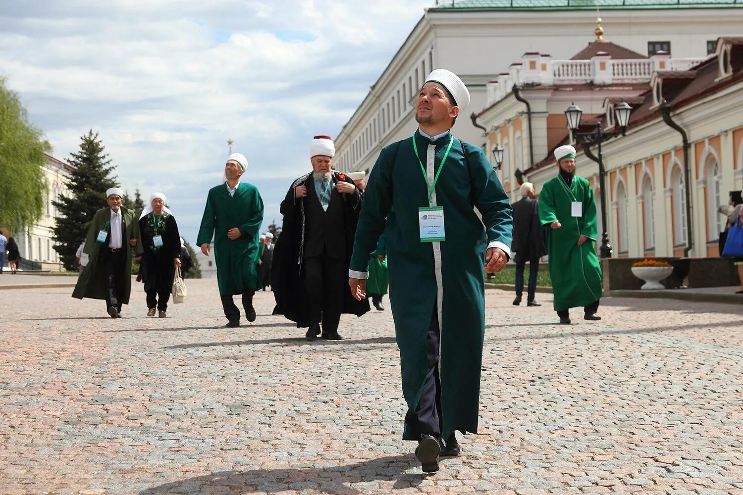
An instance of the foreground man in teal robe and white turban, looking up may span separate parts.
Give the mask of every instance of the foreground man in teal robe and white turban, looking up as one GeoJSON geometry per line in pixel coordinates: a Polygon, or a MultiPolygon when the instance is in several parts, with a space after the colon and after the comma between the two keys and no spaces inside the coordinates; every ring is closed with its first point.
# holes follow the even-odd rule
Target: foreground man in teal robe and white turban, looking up
{"type": "Polygon", "coordinates": [[[454,73],[429,74],[415,104],[420,128],[383,148],[371,170],[349,269],[351,294],[363,298],[369,258],[386,229],[408,406],[403,439],[419,442],[426,472],[438,471],[440,455],[459,453],[455,430],[477,433],[483,264],[498,272],[510,256],[508,197],[481,148],[450,131],[469,102],[454,73]]]}

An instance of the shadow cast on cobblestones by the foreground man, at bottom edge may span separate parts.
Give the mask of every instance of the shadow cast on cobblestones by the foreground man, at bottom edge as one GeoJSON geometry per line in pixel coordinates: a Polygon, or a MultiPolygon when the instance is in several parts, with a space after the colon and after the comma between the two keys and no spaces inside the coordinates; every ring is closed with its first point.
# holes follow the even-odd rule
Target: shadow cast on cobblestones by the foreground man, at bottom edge
{"type": "Polygon", "coordinates": [[[403,474],[416,464],[412,454],[387,456],[332,468],[254,469],[250,471],[218,471],[165,483],[140,491],[139,495],[158,494],[273,494],[285,491],[317,490],[322,494],[358,495],[363,491],[343,483],[393,481],[393,488],[416,487],[424,474],[403,474]],[[319,486],[317,485],[319,483],[319,486]]]}

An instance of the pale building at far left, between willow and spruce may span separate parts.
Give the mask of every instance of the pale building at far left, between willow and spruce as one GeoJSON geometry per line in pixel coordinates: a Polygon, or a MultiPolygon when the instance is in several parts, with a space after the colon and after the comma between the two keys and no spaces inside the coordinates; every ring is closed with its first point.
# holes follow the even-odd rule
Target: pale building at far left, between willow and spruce
{"type": "Polygon", "coordinates": [[[54,207],[52,201],[61,196],[67,196],[69,191],[66,183],[72,170],[71,165],[45,154],[46,160],[43,166],[47,189],[44,195],[44,211],[39,221],[33,226],[25,229],[19,235],[13,234],[21,252],[21,258],[39,263],[41,269],[62,270],[62,261],[59,254],[54,250],[53,228],[59,217],[59,210],[54,207]]]}

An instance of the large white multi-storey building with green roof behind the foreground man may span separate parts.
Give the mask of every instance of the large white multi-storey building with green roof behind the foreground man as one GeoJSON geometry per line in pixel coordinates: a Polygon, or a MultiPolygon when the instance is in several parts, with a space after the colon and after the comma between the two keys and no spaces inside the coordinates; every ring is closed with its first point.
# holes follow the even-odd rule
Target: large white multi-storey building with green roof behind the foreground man
{"type": "Polygon", "coordinates": [[[743,4],[729,0],[438,1],[337,135],[334,168],[371,171],[383,146],[412,135],[415,97],[433,68],[454,71],[467,84],[472,101],[454,131],[484,145],[470,114],[487,106],[487,82],[525,52],[569,59],[591,41],[597,7],[611,40],[643,55],[704,57],[719,36],[733,36],[743,25],[743,4]]]}

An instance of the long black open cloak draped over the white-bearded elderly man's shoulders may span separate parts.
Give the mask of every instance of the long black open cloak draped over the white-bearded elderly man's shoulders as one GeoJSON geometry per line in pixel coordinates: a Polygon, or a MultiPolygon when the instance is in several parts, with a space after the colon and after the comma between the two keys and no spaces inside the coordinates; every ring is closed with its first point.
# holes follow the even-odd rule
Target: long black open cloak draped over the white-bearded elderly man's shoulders
{"type": "MultiPolygon", "coordinates": [[[[333,172],[333,183],[345,181],[353,184],[348,177],[336,171],[333,172]]],[[[294,189],[298,186],[307,187],[308,195],[314,193],[314,179],[312,174],[305,174],[295,180],[285,199],[281,203],[281,213],[284,215],[284,223],[279,240],[273,248],[273,266],[271,267],[271,289],[273,297],[276,298],[274,315],[284,315],[287,319],[296,322],[297,327],[310,326],[310,308],[308,297],[305,294],[302,277],[304,275],[303,249],[305,243],[305,226],[307,211],[306,202],[309,196],[295,198],[294,189]]],[[[337,194],[334,192],[334,194],[337,194]]],[[[338,194],[343,200],[343,221],[348,235],[345,237],[346,255],[345,270],[351,263],[351,252],[353,252],[354,235],[356,234],[356,223],[361,211],[360,194],[338,194]]],[[[343,313],[361,316],[369,311],[369,301],[363,299],[357,301],[351,296],[351,289],[343,291],[343,313]]]]}

